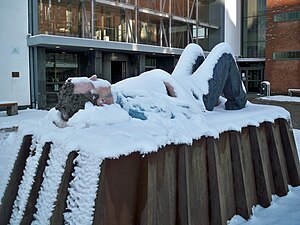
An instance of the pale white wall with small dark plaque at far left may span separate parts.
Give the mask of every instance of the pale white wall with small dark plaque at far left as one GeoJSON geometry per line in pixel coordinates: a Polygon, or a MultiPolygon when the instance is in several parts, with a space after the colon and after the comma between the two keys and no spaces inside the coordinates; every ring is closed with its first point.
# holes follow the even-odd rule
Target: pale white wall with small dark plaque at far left
{"type": "Polygon", "coordinates": [[[0,101],[30,105],[28,1],[0,1],[0,9],[0,101]]]}

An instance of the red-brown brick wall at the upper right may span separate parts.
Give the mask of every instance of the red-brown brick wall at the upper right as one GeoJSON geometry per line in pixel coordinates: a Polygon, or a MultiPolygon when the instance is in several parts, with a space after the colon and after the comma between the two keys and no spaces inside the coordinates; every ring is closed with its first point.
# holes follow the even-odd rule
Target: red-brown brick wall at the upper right
{"type": "Polygon", "coordinates": [[[300,88],[300,60],[273,60],[273,52],[300,50],[300,21],[274,22],[274,14],[299,10],[299,0],[266,1],[265,80],[274,94],[300,88]]]}

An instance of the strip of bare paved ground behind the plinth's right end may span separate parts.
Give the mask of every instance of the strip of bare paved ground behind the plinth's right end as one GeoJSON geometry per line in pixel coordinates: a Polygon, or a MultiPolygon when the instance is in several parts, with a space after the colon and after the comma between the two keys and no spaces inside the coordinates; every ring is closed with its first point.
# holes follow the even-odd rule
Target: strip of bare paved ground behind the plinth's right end
{"type": "Polygon", "coordinates": [[[255,104],[277,105],[291,113],[294,129],[300,129],[300,102],[278,102],[249,97],[248,100],[255,104]]]}

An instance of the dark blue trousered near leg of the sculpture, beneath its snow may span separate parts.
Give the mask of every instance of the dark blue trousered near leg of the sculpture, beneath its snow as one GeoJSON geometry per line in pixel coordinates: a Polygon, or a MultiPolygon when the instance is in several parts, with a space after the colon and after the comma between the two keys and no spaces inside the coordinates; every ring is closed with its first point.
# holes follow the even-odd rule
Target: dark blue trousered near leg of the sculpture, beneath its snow
{"type": "MultiPolygon", "coordinates": [[[[205,63],[205,62],[204,62],[205,63]]],[[[231,54],[224,53],[213,70],[213,78],[208,81],[209,92],[203,96],[207,110],[212,111],[219,96],[224,93],[227,110],[244,108],[246,93],[243,90],[238,68],[231,54]]]]}

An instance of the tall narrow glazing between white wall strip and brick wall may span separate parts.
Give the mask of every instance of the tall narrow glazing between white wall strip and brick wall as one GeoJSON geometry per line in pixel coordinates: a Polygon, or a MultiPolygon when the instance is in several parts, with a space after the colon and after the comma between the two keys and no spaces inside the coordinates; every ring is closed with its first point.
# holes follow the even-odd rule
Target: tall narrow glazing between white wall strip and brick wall
{"type": "Polygon", "coordinates": [[[243,1],[242,56],[262,58],[266,47],[266,0],[243,1]]]}

